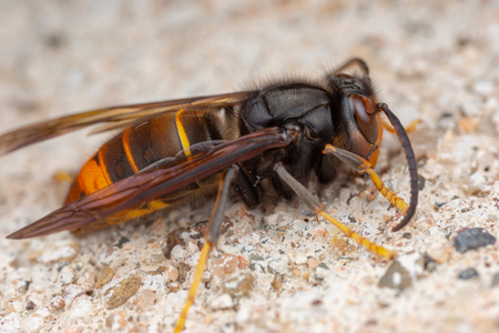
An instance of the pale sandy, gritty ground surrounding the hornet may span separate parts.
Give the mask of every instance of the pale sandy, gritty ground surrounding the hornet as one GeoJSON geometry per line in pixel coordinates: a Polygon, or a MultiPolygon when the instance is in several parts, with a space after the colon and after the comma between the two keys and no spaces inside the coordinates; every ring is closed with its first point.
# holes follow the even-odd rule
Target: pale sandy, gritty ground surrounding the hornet
{"type": "MultiPolygon", "coordinates": [[[[246,214],[235,202],[185,332],[499,332],[497,244],[454,248],[467,228],[499,233],[499,2],[6,0],[0,22],[0,132],[322,75],[350,57],[368,62],[405,124],[424,121],[411,140],[425,185],[404,231],[390,232],[397,212],[373,186],[347,204],[361,181],[320,193],[342,222],[397,251],[395,264],[296,205],[246,214]]],[[[1,158],[0,332],[172,331],[200,232],[177,232],[169,259],[167,235],[207,220],[211,203],[80,239],[3,239],[59,208],[69,183],[57,175],[106,138],[81,131],[1,158]]],[[[383,149],[384,181],[408,199],[398,141],[387,134],[383,149]]]]}

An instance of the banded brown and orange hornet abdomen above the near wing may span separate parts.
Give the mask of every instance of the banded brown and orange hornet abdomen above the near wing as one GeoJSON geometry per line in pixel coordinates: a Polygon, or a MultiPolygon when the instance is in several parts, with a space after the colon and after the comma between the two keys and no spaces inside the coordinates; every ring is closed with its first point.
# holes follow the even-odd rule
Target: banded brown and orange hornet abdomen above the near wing
{"type": "Polygon", "coordinates": [[[131,176],[159,160],[187,151],[194,143],[211,140],[213,129],[205,113],[181,110],[126,127],[83,165],[69,190],[65,204],[131,176]]]}

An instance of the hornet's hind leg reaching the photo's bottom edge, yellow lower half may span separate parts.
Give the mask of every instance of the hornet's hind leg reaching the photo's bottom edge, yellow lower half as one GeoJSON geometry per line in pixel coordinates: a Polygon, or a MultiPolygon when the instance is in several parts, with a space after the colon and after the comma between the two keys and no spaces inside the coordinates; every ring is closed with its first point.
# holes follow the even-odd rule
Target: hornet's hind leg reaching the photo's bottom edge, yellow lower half
{"type": "Polygon", "coordinates": [[[222,229],[222,222],[224,220],[224,211],[225,205],[228,201],[228,192],[231,189],[231,182],[234,178],[234,173],[238,172],[240,167],[232,165],[224,172],[224,175],[221,179],[218,194],[216,196],[215,209],[213,210],[212,218],[210,220],[206,235],[204,236],[206,240],[206,244],[203,246],[201,251],[200,262],[197,264],[196,273],[194,275],[194,281],[192,282],[191,289],[189,290],[187,301],[185,302],[184,309],[182,310],[181,317],[175,326],[175,333],[179,333],[183,330],[185,320],[187,319],[187,312],[191,305],[194,303],[196,296],[196,290],[201,281],[201,276],[203,275],[204,266],[206,265],[206,261],[210,256],[210,252],[213,246],[216,245],[218,241],[220,232],[222,229]]]}

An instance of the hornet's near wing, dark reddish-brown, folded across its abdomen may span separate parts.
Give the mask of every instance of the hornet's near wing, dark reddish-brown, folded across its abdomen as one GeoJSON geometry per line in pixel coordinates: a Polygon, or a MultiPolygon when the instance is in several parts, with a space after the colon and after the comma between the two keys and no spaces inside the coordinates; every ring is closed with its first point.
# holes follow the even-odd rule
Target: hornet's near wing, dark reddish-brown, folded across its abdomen
{"type": "Polygon", "coordinates": [[[130,178],[73,201],[8,239],[27,239],[63,230],[84,228],[124,210],[166,195],[234,163],[289,144],[295,134],[264,129],[175,161],[159,161],[130,178]]]}

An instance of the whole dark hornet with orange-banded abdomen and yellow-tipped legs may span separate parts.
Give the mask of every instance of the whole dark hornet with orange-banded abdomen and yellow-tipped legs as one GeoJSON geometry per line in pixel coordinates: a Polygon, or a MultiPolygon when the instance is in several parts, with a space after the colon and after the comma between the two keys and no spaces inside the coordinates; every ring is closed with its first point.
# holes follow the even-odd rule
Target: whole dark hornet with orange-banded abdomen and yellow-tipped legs
{"type": "Polygon", "coordinates": [[[369,175],[405,218],[413,218],[418,175],[407,133],[387,104],[378,102],[366,63],[352,59],[316,81],[288,80],[258,90],[166,102],[116,107],[62,117],[0,137],[7,153],[81,128],[122,129],[82,167],[64,206],[12,233],[26,239],[71,230],[86,232],[150,214],[194,195],[215,195],[205,245],[175,332],[183,329],[206,260],[221,233],[224,208],[235,188],[244,203],[262,203],[266,188],[298,196],[369,251],[395,254],[327,214],[304,186],[333,182],[339,167],[369,175]],[[356,68],[357,74],[346,74],[356,68]],[[373,171],[383,137],[380,114],[404,148],[410,174],[410,204],[373,171]]]}

